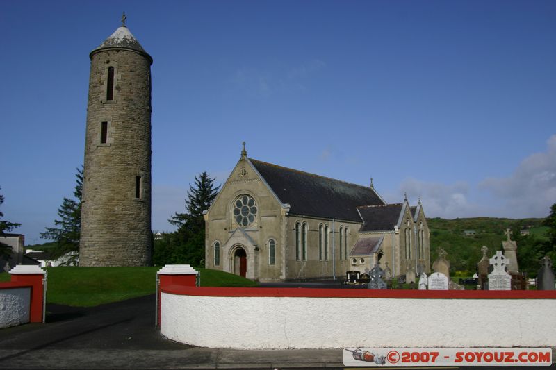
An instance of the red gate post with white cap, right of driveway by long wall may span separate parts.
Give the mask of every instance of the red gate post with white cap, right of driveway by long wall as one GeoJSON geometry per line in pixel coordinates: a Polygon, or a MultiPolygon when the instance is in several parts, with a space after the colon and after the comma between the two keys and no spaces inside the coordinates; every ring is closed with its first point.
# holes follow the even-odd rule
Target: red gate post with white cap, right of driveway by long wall
{"type": "Polygon", "coordinates": [[[199,271],[188,264],[167,264],[156,273],[156,317],[155,325],[161,324],[161,291],[170,285],[198,287],[199,271]]]}

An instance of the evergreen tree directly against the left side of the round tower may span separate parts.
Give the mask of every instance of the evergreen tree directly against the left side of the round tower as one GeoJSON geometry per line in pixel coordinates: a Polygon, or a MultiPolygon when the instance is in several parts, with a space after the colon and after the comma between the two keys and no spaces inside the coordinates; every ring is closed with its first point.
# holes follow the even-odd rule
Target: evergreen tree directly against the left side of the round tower
{"type": "Polygon", "coordinates": [[[42,239],[54,240],[55,246],[51,250],[51,258],[60,258],[66,253],[72,253],[65,264],[76,264],[79,259],[79,237],[81,235],[81,194],[83,192],[83,167],[77,169],[74,198],[64,198],[58,217],[54,220],[54,228],[47,228],[40,233],[42,239]]]}

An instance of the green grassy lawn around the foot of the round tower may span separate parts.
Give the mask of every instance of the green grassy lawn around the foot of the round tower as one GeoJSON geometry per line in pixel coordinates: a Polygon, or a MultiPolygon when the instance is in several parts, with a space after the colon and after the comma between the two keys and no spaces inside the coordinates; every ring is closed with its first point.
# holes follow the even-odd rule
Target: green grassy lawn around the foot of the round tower
{"type": "MultiPolygon", "coordinates": [[[[47,303],[91,307],[154,294],[161,267],[48,267],[47,303]]],[[[256,287],[251,280],[199,269],[203,287],[256,287]]],[[[10,275],[0,274],[0,281],[10,275]]]]}

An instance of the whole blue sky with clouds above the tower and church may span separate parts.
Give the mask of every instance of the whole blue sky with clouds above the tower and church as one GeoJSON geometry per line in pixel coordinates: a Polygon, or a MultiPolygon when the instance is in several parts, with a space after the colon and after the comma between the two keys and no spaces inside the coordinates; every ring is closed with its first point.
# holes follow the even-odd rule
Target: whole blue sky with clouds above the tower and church
{"type": "Polygon", "coordinates": [[[88,54],[124,10],[154,58],[154,230],[244,140],[428,217],[556,202],[555,1],[0,1],[1,211],[26,244],[72,196],[88,54]]]}

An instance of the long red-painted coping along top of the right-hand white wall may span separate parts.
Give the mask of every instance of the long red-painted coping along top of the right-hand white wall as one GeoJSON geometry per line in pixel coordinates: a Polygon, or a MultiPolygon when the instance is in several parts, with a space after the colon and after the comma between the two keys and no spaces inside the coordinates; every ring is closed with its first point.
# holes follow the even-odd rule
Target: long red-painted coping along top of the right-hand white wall
{"type": "Polygon", "coordinates": [[[556,290],[398,290],[318,288],[234,288],[161,286],[161,291],[187,296],[406,298],[406,299],[556,299],[556,290]]]}

